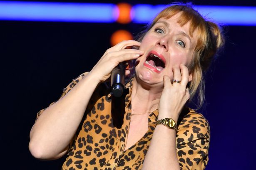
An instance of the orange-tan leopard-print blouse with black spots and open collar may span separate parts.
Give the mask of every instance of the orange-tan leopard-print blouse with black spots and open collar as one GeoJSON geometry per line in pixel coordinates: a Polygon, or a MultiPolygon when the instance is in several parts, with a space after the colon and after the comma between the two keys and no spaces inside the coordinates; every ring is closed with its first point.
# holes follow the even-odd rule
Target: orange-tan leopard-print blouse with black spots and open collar
{"type": "MultiPolygon", "coordinates": [[[[87,73],[73,79],[67,94],[87,73]]],[[[101,84],[89,101],[85,116],[70,143],[62,170],[140,170],[154,133],[158,111],[149,114],[149,129],[132,147],[124,150],[131,118],[132,80],[126,95],[118,100],[101,84]],[[115,102],[111,102],[115,100],[115,102]],[[123,105],[120,103],[124,103],[123,105]],[[117,103],[117,104],[113,104],[117,103]],[[121,106],[122,105],[122,106],[121,106]],[[115,113],[118,114],[115,114],[115,113]]],[[[61,96],[61,97],[62,97],[61,96]]],[[[45,109],[37,113],[37,118],[45,109]]],[[[208,162],[210,128],[208,121],[192,109],[184,109],[176,133],[177,157],[181,170],[203,170],[208,162]]]]}

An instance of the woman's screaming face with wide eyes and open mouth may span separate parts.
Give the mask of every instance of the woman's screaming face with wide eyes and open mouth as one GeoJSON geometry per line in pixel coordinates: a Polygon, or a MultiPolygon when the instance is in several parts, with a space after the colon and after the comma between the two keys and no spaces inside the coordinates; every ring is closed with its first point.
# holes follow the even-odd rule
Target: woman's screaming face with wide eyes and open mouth
{"type": "MultiPolygon", "coordinates": [[[[148,84],[163,86],[163,76],[173,79],[173,69],[180,64],[189,66],[196,47],[197,30],[189,34],[190,22],[182,27],[177,23],[179,14],[169,19],[160,18],[142,39],[140,50],[144,54],[137,59],[137,78],[148,84]]],[[[191,76],[190,76],[191,80],[191,76]]]]}

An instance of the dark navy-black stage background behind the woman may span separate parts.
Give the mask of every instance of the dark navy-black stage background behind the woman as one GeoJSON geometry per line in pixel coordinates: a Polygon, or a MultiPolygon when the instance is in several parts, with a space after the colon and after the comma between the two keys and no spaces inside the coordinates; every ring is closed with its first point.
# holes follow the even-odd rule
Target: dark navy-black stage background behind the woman
{"type": "MultiPolygon", "coordinates": [[[[126,2],[168,4],[171,1],[126,2]]],[[[254,0],[193,2],[256,6],[254,0]]],[[[60,169],[64,158],[40,161],[28,150],[30,128],[37,111],[57,100],[62,88],[72,79],[92,69],[110,47],[109,38],[115,30],[125,29],[135,35],[142,26],[0,21],[2,165],[7,165],[8,170],[60,169]]],[[[211,126],[206,170],[251,170],[255,169],[256,154],[256,27],[225,26],[224,32],[226,45],[206,76],[206,104],[201,110],[211,126]]]]}

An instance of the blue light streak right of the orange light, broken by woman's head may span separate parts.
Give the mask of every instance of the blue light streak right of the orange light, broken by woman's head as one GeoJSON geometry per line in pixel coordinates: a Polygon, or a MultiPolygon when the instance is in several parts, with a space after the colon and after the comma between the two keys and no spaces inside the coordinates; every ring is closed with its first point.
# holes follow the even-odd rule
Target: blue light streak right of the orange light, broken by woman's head
{"type": "MultiPolygon", "coordinates": [[[[134,5],[133,21],[138,23],[150,22],[166,5],[134,5]]],[[[256,7],[234,6],[194,6],[206,18],[224,25],[256,26],[256,7]]]]}

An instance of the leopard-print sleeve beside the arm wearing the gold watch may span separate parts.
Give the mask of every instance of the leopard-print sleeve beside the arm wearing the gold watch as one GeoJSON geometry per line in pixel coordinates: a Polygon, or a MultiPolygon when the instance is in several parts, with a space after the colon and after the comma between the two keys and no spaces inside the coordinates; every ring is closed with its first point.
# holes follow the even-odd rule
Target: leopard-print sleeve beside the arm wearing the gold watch
{"type": "Polygon", "coordinates": [[[181,170],[204,170],[208,163],[209,123],[191,111],[179,124],[176,136],[177,157],[181,170]]]}

